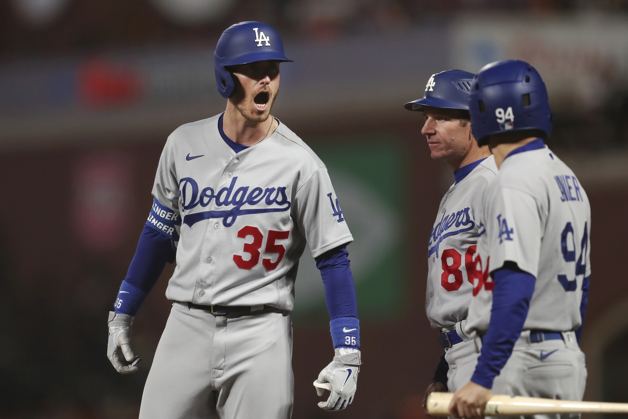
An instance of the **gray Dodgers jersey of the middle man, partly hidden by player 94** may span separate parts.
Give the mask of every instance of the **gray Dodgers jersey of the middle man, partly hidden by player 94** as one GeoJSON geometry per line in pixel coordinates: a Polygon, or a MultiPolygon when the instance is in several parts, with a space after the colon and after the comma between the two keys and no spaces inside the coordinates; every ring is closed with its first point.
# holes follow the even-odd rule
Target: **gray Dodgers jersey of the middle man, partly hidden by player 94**
{"type": "Polygon", "coordinates": [[[425,311],[435,329],[450,329],[467,318],[473,285],[477,219],[485,190],[495,178],[495,158],[489,156],[454,183],[440,202],[428,242],[428,283],[425,311]]]}

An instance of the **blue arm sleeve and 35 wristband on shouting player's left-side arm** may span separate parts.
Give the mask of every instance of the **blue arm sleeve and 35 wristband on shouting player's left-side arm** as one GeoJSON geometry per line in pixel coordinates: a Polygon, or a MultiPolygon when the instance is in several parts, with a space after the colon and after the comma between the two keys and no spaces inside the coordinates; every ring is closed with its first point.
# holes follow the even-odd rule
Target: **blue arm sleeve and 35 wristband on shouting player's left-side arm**
{"type": "Polygon", "coordinates": [[[170,237],[144,226],[139,236],[138,249],[114,303],[116,313],[132,316],[138,313],[139,307],[157,282],[166,262],[171,260],[173,253],[170,237]]]}

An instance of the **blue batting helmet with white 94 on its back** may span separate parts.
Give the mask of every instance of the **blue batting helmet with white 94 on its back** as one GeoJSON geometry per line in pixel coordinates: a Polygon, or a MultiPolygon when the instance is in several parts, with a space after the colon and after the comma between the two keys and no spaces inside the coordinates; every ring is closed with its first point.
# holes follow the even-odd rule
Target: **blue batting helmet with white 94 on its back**
{"type": "Polygon", "coordinates": [[[519,60],[482,67],[469,96],[471,130],[480,146],[492,134],[535,129],[549,138],[552,126],[548,92],[538,71],[519,60]]]}

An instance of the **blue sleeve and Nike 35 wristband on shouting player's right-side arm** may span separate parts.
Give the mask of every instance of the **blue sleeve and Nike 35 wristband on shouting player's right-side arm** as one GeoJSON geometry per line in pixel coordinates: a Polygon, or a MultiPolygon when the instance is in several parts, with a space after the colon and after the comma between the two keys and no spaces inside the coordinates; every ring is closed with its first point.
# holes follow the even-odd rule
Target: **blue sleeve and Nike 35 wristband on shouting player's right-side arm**
{"type": "Polygon", "coordinates": [[[347,245],[338,246],[315,258],[325,286],[333,347],[359,347],[360,325],[357,298],[347,245]]]}

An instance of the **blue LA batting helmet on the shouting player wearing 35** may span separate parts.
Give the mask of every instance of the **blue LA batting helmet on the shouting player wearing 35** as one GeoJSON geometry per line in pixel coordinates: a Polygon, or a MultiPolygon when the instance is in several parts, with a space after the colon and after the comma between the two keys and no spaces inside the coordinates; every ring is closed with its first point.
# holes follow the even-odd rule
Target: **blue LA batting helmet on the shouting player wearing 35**
{"type": "Polygon", "coordinates": [[[216,87],[227,99],[234,91],[231,73],[225,67],[263,60],[292,61],[283,53],[281,36],[272,26],[261,22],[241,22],[229,26],[216,45],[214,72],[216,87]]]}

